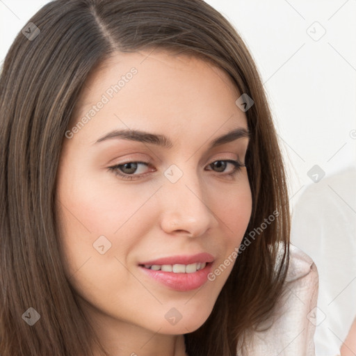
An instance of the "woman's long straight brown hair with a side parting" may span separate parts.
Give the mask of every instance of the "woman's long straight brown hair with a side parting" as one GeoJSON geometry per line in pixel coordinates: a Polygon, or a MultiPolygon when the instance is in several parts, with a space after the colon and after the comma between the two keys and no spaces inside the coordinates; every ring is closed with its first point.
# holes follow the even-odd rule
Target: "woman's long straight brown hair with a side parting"
{"type": "Polygon", "coordinates": [[[0,79],[0,355],[92,355],[99,345],[63,271],[54,204],[58,160],[93,68],[114,51],[156,48],[209,60],[254,100],[245,113],[252,190],[246,248],[207,321],[184,335],[190,356],[236,355],[245,332],[273,310],[289,264],[284,164],[248,48],[202,0],[56,0],[29,22],[40,33],[17,35],[0,79]],[[40,314],[31,327],[22,320],[29,307],[40,314]]]}

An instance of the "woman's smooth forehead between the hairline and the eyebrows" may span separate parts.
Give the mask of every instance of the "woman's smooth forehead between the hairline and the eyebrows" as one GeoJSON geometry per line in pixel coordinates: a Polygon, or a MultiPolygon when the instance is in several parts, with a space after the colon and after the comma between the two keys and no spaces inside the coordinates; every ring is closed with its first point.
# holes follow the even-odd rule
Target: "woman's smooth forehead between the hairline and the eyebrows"
{"type": "Polygon", "coordinates": [[[229,75],[207,60],[163,50],[116,52],[88,76],[72,123],[104,101],[86,124],[88,135],[112,128],[211,135],[223,124],[247,127],[239,95],[229,75]]]}

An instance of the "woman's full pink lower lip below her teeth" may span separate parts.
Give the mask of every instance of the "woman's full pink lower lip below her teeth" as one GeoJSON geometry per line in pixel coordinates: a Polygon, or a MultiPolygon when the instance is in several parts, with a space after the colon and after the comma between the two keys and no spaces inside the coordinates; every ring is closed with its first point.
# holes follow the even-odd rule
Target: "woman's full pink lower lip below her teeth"
{"type": "Polygon", "coordinates": [[[175,291],[193,291],[193,289],[200,288],[200,286],[207,282],[211,271],[211,263],[193,273],[164,272],[163,270],[149,270],[143,266],[139,267],[149,277],[154,278],[154,280],[165,284],[165,286],[175,291]]]}

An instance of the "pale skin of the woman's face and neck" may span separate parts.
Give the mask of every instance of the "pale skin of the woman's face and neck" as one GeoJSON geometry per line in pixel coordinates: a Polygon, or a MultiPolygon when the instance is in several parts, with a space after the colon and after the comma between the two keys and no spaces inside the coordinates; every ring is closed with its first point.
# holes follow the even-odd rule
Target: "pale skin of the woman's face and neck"
{"type": "Polygon", "coordinates": [[[233,264],[193,291],[170,289],[138,264],[208,252],[215,270],[240,245],[252,209],[250,184],[247,168],[227,176],[234,165],[225,161],[245,163],[249,138],[209,145],[234,129],[248,130],[235,104],[241,94],[218,67],[167,51],[116,53],[102,64],[86,82],[73,125],[131,67],[138,72],[64,140],[56,206],[65,270],[112,356],[186,356],[183,334],[207,320],[233,264]],[[161,134],[172,147],[122,138],[96,143],[114,129],[161,134]],[[133,180],[108,170],[138,161],[149,163],[120,171],[141,175],[133,180]],[[216,161],[223,168],[211,165],[216,161]],[[175,183],[164,175],[173,164],[183,174],[175,183]],[[93,247],[99,236],[111,243],[104,254],[93,247]],[[165,318],[172,308],[182,316],[175,325],[165,318]]]}

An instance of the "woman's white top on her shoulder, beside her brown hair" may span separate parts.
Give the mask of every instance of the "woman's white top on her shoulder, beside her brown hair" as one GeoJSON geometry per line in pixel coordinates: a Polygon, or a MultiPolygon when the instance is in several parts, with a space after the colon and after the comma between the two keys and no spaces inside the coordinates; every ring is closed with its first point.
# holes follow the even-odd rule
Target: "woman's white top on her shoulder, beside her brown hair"
{"type": "MultiPolygon", "coordinates": [[[[291,245],[284,298],[275,305],[270,329],[254,332],[238,356],[314,356],[318,270],[312,259],[291,245]]],[[[266,325],[268,325],[266,323],[266,325]]]]}

